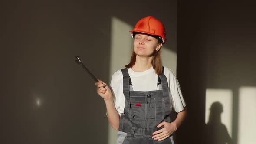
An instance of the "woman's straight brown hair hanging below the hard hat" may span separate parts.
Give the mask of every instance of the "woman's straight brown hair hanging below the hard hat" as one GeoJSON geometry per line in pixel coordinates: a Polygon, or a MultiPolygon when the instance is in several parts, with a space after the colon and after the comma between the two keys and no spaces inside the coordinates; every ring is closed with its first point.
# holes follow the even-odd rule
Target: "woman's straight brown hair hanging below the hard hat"
{"type": "MultiPolygon", "coordinates": [[[[158,74],[158,75],[160,75],[163,71],[161,49],[162,48],[160,48],[158,51],[154,50],[153,59],[151,62],[156,74],[158,74]]],[[[134,51],[132,51],[131,61],[128,65],[125,65],[125,68],[127,68],[127,69],[131,68],[135,64],[135,62],[136,62],[136,53],[134,51]]]]}

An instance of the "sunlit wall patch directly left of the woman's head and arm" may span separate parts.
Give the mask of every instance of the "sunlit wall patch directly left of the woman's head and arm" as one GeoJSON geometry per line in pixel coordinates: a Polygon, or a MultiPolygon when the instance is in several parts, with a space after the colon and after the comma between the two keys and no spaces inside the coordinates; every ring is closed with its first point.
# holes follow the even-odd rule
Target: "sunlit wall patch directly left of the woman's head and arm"
{"type": "MultiPolygon", "coordinates": [[[[125,68],[131,57],[132,39],[129,30],[132,29],[127,23],[112,17],[111,27],[111,49],[110,49],[110,72],[109,82],[112,75],[118,69],[125,68]]],[[[115,144],[117,138],[117,131],[108,124],[108,144],[115,144]]]]}

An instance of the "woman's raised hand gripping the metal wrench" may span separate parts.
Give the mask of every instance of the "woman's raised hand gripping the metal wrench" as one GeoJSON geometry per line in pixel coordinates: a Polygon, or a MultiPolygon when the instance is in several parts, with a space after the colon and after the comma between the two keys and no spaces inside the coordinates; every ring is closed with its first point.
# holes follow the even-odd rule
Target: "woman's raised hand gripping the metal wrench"
{"type": "Polygon", "coordinates": [[[96,85],[98,95],[104,98],[104,100],[112,98],[112,92],[105,82],[102,82],[100,79],[98,79],[98,82],[95,82],[94,85],[96,85]]]}

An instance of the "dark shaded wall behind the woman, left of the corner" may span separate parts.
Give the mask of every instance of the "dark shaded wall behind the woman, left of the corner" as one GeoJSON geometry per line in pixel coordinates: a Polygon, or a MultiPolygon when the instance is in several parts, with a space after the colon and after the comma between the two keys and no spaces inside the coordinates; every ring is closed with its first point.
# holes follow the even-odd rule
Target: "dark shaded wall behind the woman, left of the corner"
{"type": "Polygon", "coordinates": [[[109,83],[113,16],[132,26],[157,17],[166,26],[166,47],[176,52],[176,0],[22,0],[1,6],[0,143],[107,143],[104,101],[74,56],[109,83]]]}

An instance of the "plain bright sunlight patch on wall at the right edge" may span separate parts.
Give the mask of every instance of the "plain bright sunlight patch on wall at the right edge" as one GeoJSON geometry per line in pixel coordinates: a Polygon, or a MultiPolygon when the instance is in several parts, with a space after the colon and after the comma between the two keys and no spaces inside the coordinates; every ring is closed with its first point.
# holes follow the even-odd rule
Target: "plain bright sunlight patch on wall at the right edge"
{"type": "Polygon", "coordinates": [[[239,88],[238,144],[256,144],[256,87],[239,88]]]}

